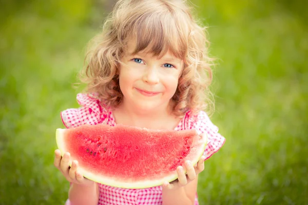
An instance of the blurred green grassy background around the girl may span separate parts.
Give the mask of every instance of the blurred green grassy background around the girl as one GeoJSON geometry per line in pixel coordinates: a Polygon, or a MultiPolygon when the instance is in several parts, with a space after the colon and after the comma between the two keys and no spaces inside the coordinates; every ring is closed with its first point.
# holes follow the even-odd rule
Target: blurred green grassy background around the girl
{"type": "MultiPolygon", "coordinates": [[[[212,117],[226,144],[205,163],[200,204],[308,204],[304,1],[193,1],[220,60],[212,117]]],[[[60,111],[112,2],[0,1],[0,204],[64,204],[53,167],[60,111]]]]}

